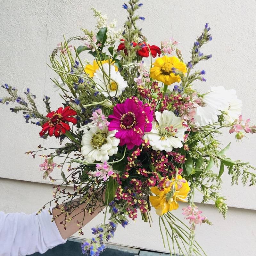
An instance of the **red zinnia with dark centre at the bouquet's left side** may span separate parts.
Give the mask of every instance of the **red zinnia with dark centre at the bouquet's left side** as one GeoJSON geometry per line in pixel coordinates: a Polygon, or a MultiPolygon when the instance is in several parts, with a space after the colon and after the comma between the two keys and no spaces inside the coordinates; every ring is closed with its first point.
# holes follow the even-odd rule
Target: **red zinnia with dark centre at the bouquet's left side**
{"type": "Polygon", "coordinates": [[[77,112],[70,109],[70,106],[63,108],[58,108],[56,112],[52,111],[48,113],[46,117],[50,120],[42,125],[42,131],[40,131],[39,135],[43,136],[47,131],[49,136],[58,137],[62,134],[65,134],[66,131],[70,130],[70,126],[66,122],[71,122],[73,124],[77,123],[77,120],[74,117],[77,112]]]}

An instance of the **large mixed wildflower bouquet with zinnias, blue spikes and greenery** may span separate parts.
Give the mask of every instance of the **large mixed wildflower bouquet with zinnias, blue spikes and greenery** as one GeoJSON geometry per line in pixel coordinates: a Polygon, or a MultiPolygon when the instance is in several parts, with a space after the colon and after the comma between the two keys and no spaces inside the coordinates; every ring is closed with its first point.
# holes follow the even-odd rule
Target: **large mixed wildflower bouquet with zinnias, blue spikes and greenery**
{"type": "MultiPolygon", "coordinates": [[[[52,81],[63,100],[56,111],[44,96],[48,113],[40,113],[29,88],[23,98],[7,84],[2,87],[9,95],[0,103],[15,103],[11,111],[22,112],[27,123],[40,129],[41,138],[59,141],[58,148],[39,145],[27,153],[35,158],[46,151],[39,155],[44,158],[40,170],[45,179],[55,182],[52,173],[60,168],[62,186],[54,186],[49,204],[59,208],[64,198],[64,227],[72,221],[70,213],[85,202],[82,211],[94,212],[100,201],[105,213],[111,213],[109,221],[105,215],[103,223],[92,228],[95,236],[82,244],[84,254],[100,255],[117,225],[125,227],[138,214],[151,225],[154,208],[170,252],[178,248],[180,255],[206,255],[194,239],[195,226],[211,222],[194,204],[195,191],[202,193],[203,203],[214,201],[226,218],[226,199],[218,192],[223,172],[228,171],[232,185],[239,178],[244,185],[256,184],[256,174],[250,171],[256,169],[227,157],[230,144],[221,147],[216,136],[220,128],[228,128],[241,140],[246,133],[256,133],[256,126],[243,119],[235,90],[196,89],[197,83],[206,81],[205,71],[196,70],[196,64],[211,58],[202,53],[202,46],[212,39],[208,23],[185,62],[173,38],[159,46],[147,41],[136,24],[145,20],[137,15],[141,6],[139,0],[123,4],[128,17],[121,30],[115,30],[115,22],[107,25],[106,17],[93,8],[96,31],[82,29],[83,36],[64,38],[54,49],[50,62],[59,79],[52,81]],[[70,45],[72,40],[80,46],[70,45]],[[85,53],[93,61],[81,60],[85,53]],[[55,163],[56,159],[64,161],[55,163]],[[67,177],[64,166],[70,173],[67,177]],[[70,186],[73,193],[66,191],[70,186]],[[70,203],[73,199],[78,203],[70,203]],[[179,202],[188,204],[183,212],[179,202]],[[177,209],[180,219],[172,212],[177,209]]],[[[83,234],[83,223],[78,225],[83,234]]]]}

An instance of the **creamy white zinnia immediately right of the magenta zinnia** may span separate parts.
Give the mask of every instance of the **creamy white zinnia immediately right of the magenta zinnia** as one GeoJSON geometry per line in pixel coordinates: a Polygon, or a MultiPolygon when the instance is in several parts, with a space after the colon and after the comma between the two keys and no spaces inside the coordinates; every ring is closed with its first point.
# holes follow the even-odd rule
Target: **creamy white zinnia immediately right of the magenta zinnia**
{"type": "Polygon", "coordinates": [[[182,119],[172,111],[156,111],[156,121],[152,122],[152,130],[145,133],[153,150],[171,152],[173,148],[181,148],[186,128],[182,126],[182,119]]]}

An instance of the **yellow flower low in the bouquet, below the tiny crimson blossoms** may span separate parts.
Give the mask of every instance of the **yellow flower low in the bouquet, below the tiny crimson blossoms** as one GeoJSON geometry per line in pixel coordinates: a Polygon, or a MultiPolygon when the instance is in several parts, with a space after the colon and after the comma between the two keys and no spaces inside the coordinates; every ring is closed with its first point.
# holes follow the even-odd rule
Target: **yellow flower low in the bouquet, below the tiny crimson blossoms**
{"type": "Polygon", "coordinates": [[[185,179],[178,175],[178,181],[175,183],[175,192],[172,191],[175,179],[167,180],[164,184],[164,190],[160,191],[157,187],[152,187],[151,192],[156,195],[150,195],[149,201],[156,209],[157,215],[163,215],[168,211],[176,210],[179,207],[178,201],[187,202],[186,197],[190,187],[185,179]],[[166,184],[169,186],[166,187],[166,184]]]}

